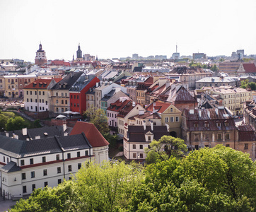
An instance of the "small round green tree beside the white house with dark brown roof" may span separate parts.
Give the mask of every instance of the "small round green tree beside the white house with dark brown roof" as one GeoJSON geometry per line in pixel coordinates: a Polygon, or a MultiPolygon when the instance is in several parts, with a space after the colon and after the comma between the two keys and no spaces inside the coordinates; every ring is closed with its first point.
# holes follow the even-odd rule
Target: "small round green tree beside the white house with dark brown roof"
{"type": "Polygon", "coordinates": [[[168,160],[171,156],[180,158],[187,152],[184,140],[173,136],[162,136],[159,141],[153,140],[150,148],[146,148],[147,163],[156,163],[156,160],[168,160]]]}

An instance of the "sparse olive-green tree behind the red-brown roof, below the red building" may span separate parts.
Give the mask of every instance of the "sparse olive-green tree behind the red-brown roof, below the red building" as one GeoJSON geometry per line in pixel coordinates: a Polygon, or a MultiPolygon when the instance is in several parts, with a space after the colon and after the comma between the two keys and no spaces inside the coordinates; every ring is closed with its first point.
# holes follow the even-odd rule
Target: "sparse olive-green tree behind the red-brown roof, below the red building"
{"type": "Polygon", "coordinates": [[[101,134],[106,134],[110,131],[107,123],[107,116],[103,109],[96,110],[95,107],[90,107],[83,112],[83,117],[89,119],[101,134]]]}

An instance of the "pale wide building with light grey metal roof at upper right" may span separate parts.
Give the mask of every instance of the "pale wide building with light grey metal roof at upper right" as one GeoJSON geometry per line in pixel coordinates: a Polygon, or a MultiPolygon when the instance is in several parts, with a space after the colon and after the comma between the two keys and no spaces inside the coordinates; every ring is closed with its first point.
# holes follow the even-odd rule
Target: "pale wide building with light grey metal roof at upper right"
{"type": "Polygon", "coordinates": [[[220,87],[220,86],[240,86],[240,81],[238,78],[233,78],[230,76],[226,77],[205,77],[196,81],[196,89],[201,89],[202,87],[220,87]]]}

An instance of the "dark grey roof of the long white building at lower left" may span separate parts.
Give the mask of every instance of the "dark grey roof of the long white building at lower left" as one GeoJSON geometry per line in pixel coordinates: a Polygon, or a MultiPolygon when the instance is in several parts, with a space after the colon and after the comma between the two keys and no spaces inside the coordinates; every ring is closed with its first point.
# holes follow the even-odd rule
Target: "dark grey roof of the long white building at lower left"
{"type": "Polygon", "coordinates": [[[0,153],[13,158],[24,158],[31,155],[61,153],[75,149],[92,148],[85,134],[72,136],[54,136],[47,139],[21,141],[0,135],[0,153]]]}

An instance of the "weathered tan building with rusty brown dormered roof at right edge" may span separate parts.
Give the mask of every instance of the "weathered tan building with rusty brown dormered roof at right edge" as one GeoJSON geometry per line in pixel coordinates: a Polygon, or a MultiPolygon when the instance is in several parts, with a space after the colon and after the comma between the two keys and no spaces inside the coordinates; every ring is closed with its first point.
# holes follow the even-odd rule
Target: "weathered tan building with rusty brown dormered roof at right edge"
{"type": "Polygon", "coordinates": [[[252,160],[255,160],[254,133],[252,126],[236,127],[232,114],[224,107],[182,112],[182,139],[189,151],[221,144],[250,153],[252,160]]]}

